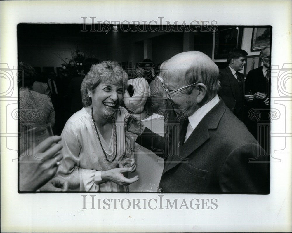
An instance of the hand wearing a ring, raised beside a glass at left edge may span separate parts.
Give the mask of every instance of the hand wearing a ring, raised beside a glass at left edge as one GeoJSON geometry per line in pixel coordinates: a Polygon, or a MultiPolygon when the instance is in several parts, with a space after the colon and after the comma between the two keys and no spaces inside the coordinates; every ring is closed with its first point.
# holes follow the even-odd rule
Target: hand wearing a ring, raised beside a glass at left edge
{"type": "Polygon", "coordinates": [[[48,137],[34,148],[34,155],[27,155],[28,151],[31,151],[27,150],[20,156],[20,191],[35,191],[56,174],[58,161],[63,158],[61,154],[56,155],[63,147],[61,144],[56,144],[60,140],[60,136],[48,137]]]}

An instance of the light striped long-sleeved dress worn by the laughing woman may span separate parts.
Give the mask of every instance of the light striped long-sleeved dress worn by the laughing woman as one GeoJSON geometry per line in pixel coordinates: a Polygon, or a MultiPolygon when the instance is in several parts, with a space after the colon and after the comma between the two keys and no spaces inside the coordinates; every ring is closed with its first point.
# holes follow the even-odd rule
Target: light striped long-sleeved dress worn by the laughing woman
{"type": "MultiPolygon", "coordinates": [[[[72,115],[67,121],[61,134],[63,160],[58,167],[57,175],[69,182],[71,191],[93,192],[119,192],[125,191],[123,185],[117,185],[111,181],[96,182],[94,176],[98,171],[106,171],[118,167],[119,161],[126,153],[125,138],[125,114],[126,109],[119,107],[116,111],[117,130],[117,157],[111,163],[107,162],[100,142],[95,134],[90,114],[85,108],[72,115]]],[[[112,153],[114,143],[114,127],[111,143],[108,145],[102,138],[100,140],[108,153],[112,153]]],[[[114,155],[113,155],[114,157],[114,155]]],[[[112,158],[109,158],[111,161],[112,158]]]]}

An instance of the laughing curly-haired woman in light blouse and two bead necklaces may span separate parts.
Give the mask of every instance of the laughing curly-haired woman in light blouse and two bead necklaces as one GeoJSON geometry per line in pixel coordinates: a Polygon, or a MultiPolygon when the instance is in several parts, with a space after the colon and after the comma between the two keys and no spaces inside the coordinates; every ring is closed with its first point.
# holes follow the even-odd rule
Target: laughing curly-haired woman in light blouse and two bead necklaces
{"type": "Polygon", "coordinates": [[[131,138],[126,137],[128,112],[120,107],[127,82],[122,67],[111,61],[93,65],[85,76],[84,108],[69,118],[61,134],[64,159],[57,174],[69,182],[69,190],[126,191],[125,184],[138,180],[122,174],[136,169],[133,159],[129,167],[121,165],[132,149],[131,138]]]}

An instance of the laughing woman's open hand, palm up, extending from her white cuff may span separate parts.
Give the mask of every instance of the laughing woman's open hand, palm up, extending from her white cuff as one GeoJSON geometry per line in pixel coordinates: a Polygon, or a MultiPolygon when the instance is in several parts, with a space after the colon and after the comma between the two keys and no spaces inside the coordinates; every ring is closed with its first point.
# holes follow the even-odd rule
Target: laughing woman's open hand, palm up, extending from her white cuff
{"type": "Polygon", "coordinates": [[[101,179],[102,181],[112,181],[118,185],[131,184],[139,180],[139,176],[135,176],[129,179],[124,177],[123,172],[131,171],[131,170],[132,170],[131,167],[124,167],[124,168],[114,168],[108,171],[102,171],[101,179]]]}

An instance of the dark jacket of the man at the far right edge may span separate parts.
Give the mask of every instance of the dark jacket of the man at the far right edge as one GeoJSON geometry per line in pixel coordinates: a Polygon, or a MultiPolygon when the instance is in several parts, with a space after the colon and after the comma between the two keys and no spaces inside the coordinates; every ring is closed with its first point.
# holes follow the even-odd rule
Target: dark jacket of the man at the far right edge
{"type": "MultiPolygon", "coordinates": [[[[271,79],[270,79],[271,80],[271,79]]],[[[267,78],[263,75],[263,66],[253,69],[248,72],[246,76],[245,86],[247,91],[251,91],[253,94],[256,92],[266,92],[270,96],[270,82],[267,82],[267,78]]],[[[254,99],[248,103],[253,108],[269,108],[265,105],[263,100],[254,99]]]]}

